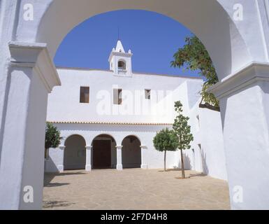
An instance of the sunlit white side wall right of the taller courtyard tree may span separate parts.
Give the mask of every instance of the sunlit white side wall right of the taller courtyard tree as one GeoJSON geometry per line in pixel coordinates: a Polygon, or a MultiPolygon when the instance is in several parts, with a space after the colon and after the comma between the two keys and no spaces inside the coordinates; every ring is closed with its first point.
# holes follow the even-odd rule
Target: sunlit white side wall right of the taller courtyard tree
{"type": "MultiPolygon", "coordinates": [[[[199,108],[198,104],[201,101],[199,91],[198,83],[188,85],[188,95],[195,95],[198,101],[195,103],[189,99],[189,125],[194,141],[191,142],[191,149],[184,151],[185,167],[217,179],[227,180],[221,116],[218,111],[199,108]]],[[[180,161],[178,163],[180,166],[180,161]]]]}

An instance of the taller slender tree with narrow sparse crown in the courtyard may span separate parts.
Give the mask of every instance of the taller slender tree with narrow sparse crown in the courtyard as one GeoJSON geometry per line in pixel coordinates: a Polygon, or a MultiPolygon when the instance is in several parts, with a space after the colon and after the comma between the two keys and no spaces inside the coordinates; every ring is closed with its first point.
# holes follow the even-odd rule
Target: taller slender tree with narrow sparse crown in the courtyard
{"type": "Polygon", "coordinates": [[[179,140],[179,149],[181,155],[181,171],[182,179],[185,178],[183,150],[191,148],[191,141],[194,141],[194,137],[191,134],[191,126],[188,125],[188,117],[182,115],[182,103],[180,101],[175,102],[175,112],[177,116],[173,123],[173,130],[177,134],[179,140]]]}

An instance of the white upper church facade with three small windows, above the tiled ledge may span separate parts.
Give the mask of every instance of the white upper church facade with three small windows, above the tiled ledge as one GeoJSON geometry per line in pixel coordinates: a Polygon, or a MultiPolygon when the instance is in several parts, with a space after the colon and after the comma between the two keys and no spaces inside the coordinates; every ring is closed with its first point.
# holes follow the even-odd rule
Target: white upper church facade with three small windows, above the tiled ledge
{"type": "MultiPolygon", "coordinates": [[[[173,104],[180,99],[185,105],[186,97],[186,90],[177,89],[191,80],[138,73],[120,77],[110,71],[80,69],[58,69],[58,73],[61,87],[49,94],[48,121],[173,123],[173,104]],[[89,104],[80,104],[80,86],[89,87],[89,104]],[[122,89],[122,105],[112,104],[113,88],[122,89]],[[145,89],[152,90],[150,100],[145,99],[145,89]]],[[[202,84],[197,78],[193,82],[202,84]]]]}

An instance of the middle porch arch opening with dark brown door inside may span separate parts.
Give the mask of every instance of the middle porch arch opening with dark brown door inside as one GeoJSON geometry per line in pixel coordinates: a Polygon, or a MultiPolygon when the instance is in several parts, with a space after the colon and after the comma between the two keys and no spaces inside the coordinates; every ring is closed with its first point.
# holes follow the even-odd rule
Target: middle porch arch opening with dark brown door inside
{"type": "Polygon", "coordinates": [[[92,141],[92,168],[110,169],[117,165],[116,141],[108,134],[101,134],[92,141]]]}

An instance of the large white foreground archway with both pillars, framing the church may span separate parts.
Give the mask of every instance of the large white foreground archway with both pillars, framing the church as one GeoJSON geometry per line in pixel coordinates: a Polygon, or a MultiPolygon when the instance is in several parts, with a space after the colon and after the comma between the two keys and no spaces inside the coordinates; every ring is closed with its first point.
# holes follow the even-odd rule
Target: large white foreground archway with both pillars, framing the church
{"type": "Polygon", "coordinates": [[[244,1],[244,20],[233,21],[233,0],[1,1],[0,209],[41,209],[45,111],[48,92],[60,85],[51,59],[59,43],[83,20],[124,8],[168,15],[201,38],[221,80],[212,92],[221,104],[232,208],[268,207],[269,177],[263,173],[269,169],[269,28],[264,2],[244,1]],[[23,18],[26,3],[36,9],[32,21],[23,18]],[[34,188],[34,203],[24,202],[24,186],[34,188]],[[233,200],[238,186],[242,202],[233,200]]]}

